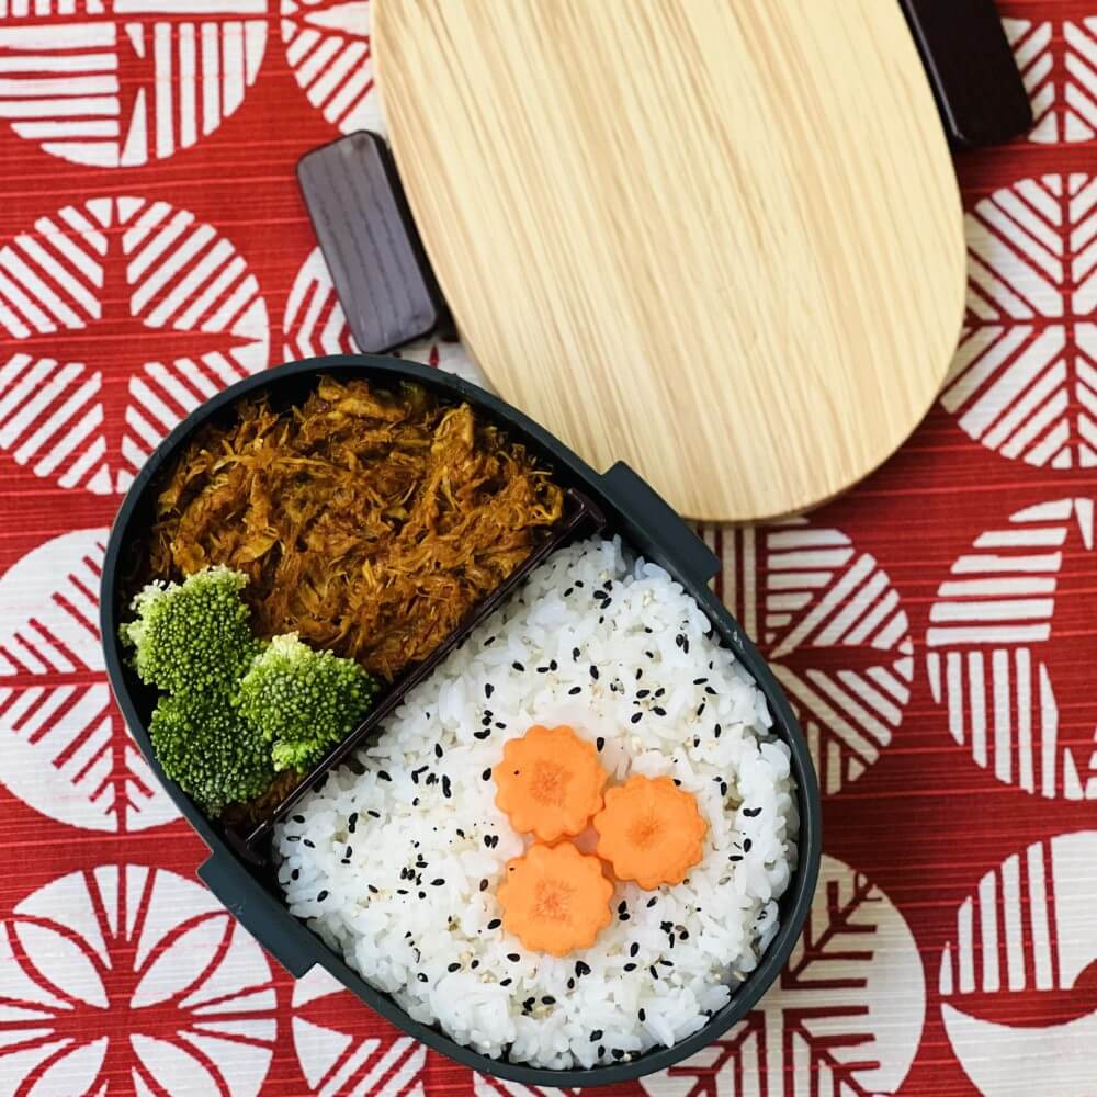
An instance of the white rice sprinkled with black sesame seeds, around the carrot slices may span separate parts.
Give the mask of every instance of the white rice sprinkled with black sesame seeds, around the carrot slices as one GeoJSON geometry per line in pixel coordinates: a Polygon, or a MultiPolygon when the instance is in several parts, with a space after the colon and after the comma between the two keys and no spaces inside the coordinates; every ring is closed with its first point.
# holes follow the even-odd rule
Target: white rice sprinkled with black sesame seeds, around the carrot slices
{"type": "Polygon", "coordinates": [[[618,540],[586,541],[539,567],[278,828],[279,881],[370,984],[484,1054],[564,1068],[669,1047],[728,1002],[778,929],[798,818],[770,725],[681,586],[618,540]],[[527,841],[490,770],[532,724],[600,744],[611,784],[672,777],[709,823],[683,883],[618,883],[609,928],[563,959],[506,935],[495,898],[527,841]]]}

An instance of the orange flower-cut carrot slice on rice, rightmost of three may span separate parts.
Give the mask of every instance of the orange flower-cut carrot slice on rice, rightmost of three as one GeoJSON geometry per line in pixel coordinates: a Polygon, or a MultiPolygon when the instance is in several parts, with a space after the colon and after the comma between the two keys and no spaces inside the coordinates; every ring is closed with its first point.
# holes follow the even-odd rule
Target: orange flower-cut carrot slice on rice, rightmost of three
{"type": "Polygon", "coordinates": [[[701,860],[709,824],[697,801],[669,777],[631,777],[606,793],[595,829],[598,856],[619,880],[658,887],[680,884],[701,860]]]}

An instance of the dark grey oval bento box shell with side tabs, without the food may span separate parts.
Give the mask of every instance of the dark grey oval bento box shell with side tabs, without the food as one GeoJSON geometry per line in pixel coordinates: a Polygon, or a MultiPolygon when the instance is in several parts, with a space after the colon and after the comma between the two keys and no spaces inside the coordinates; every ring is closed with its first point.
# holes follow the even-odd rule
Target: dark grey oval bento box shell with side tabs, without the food
{"type": "MultiPolygon", "coordinates": [[[[575,518],[575,511],[572,518],[575,518]]],[[[578,527],[570,531],[570,535],[577,532],[578,527]]],[[[604,474],[596,473],[542,427],[489,393],[450,374],[397,359],[314,359],[248,377],[215,396],[180,423],[146,463],[126,495],[106,546],[100,599],[103,647],[111,686],[142,753],[180,812],[210,847],[211,856],[199,869],[199,875],[292,975],[304,975],[315,964],[320,964],[409,1036],[484,1074],[534,1086],[573,1088],[607,1085],[666,1070],[715,1040],[746,1016],[788,960],[811,908],[818,875],[822,811],[807,744],[765,660],[709,588],[709,580],[717,567],[716,557],[703,542],[631,468],[619,463],[604,474]],[[665,567],[697,599],[722,642],[735,653],[765,693],[773,715],[773,731],[789,744],[792,754],[800,814],[799,866],[780,901],[781,927],[758,968],[735,988],[731,1002],[704,1028],[675,1047],[655,1049],[629,1062],[591,1070],[548,1071],[489,1059],[455,1043],[438,1029],[414,1021],[388,995],[370,986],[340,955],[289,913],[282,902],[274,870],[261,848],[263,835],[245,836],[241,845],[239,835],[227,835],[223,827],[211,823],[160,770],[148,738],[148,721],[156,704],[156,691],[143,685],[125,663],[117,641],[118,625],[127,615],[125,596],[134,574],[134,553],[136,546],[144,544],[155,513],[157,476],[195,431],[211,421],[226,419],[240,397],[262,389],[272,406],[287,407],[301,403],[313,391],[319,375],[325,373],[346,380],[362,377],[382,386],[411,380],[443,398],[468,402],[480,415],[497,422],[511,438],[522,441],[541,457],[553,470],[557,483],[577,493],[573,500],[584,500],[581,507],[591,508],[588,517],[603,519],[607,532],[620,533],[627,544],[665,567]],[[247,837],[252,838],[251,847],[247,845],[247,837]]],[[[357,734],[367,734],[367,730],[363,725],[357,734]]],[[[326,759],[331,760],[333,757],[326,759]]]]}

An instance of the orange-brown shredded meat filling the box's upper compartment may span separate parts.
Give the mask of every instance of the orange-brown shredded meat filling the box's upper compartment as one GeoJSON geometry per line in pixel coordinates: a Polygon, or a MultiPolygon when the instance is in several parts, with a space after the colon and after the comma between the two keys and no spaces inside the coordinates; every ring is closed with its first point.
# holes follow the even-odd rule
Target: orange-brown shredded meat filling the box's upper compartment
{"type": "Polygon", "coordinates": [[[544,539],[563,493],[466,404],[321,378],[239,407],[171,468],[150,565],[246,573],[262,636],[297,632],[392,679],[428,656],[544,539]]]}

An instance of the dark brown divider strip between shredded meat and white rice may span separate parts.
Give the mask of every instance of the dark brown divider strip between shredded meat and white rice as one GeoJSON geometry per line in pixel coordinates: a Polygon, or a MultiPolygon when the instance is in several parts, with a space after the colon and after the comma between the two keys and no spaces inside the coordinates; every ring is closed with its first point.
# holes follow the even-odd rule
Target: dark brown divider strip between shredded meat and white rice
{"type": "Polygon", "coordinates": [[[433,669],[457,647],[468,634],[483,621],[489,618],[501,606],[511,592],[527,576],[557,548],[564,547],[578,534],[593,534],[606,525],[606,516],[595,501],[569,488],[566,494],[565,517],[553,529],[552,534],[532,552],[522,564],[490,595],[487,596],[468,614],[460,627],[442,641],[433,652],[420,663],[405,670],[393,685],[373,703],[365,719],[344,739],[337,743],[316,766],[304,777],[293,791],[283,800],[271,815],[259,823],[252,824],[250,830],[239,830],[226,826],[225,838],[228,844],[252,864],[261,864],[267,860],[265,841],[271,836],[274,825],[293,811],[293,807],[309,790],[318,785],[328,772],[343,759],[353,754],[365,738],[388,716],[396,711],[404,698],[426,679],[433,669]]]}

